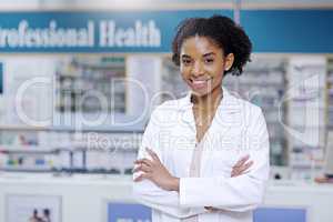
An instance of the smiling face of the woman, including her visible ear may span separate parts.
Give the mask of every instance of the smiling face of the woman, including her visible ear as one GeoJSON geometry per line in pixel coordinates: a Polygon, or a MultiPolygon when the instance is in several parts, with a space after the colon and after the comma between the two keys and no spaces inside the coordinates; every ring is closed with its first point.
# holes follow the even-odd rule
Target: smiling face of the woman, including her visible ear
{"type": "Polygon", "coordinates": [[[199,97],[221,88],[224,70],[233,62],[233,54],[224,57],[223,50],[206,37],[191,37],[181,46],[180,70],[183,80],[199,97]]]}

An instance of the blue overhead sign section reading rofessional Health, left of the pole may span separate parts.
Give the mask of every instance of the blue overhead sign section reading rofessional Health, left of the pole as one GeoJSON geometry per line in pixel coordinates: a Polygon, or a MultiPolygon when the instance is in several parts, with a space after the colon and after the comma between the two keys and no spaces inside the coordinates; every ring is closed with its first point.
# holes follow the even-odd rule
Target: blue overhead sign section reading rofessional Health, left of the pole
{"type": "MultiPolygon", "coordinates": [[[[180,20],[221,11],[1,12],[2,52],[169,52],[180,20]]],[[[224,11],[231,16],[231,11],[224,11]]]]}

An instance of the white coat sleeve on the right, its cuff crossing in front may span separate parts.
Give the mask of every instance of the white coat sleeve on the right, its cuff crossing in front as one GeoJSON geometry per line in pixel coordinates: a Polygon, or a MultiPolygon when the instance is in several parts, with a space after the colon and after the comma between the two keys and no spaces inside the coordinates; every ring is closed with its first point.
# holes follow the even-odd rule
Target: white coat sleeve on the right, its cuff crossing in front
{"type": "Polygon", "coordinates": [[[209,205],[220,210],[244,212],[255,209],[262,202],[270,171],[269,134],[261,109],[256,108],[253,115],[250,118],[250,140],[246,143],[250,159],[254,162],[250,172],[235,178],[181,178],[182,206],[209,205]]]}

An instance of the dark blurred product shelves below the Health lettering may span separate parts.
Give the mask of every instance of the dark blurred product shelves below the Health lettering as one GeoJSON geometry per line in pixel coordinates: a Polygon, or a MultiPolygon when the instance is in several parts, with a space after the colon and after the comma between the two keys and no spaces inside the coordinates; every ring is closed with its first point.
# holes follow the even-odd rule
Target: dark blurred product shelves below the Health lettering
{"type": "Polygon", "coordinates": [[[125,59],[72,57],[56,71],[56,110],[59,112],[125,113],[125,59]],[[102,98],[105,104],[101,105],[102,98]]]}

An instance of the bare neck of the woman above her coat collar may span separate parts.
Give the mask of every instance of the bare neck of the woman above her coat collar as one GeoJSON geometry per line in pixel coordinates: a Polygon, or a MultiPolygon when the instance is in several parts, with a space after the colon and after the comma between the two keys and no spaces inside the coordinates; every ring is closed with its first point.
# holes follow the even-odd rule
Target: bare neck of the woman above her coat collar
{"type": "Polygon", "coordinates": [[[223,97],[223,91],[221,87],[216,87],[211,91],[210,93],[205,95],[196,95],[192,94],[192,102],[195,108],[199,108],[201,110],[209,110],[214,109],[219,105],[220,100],[223,97]]]}

